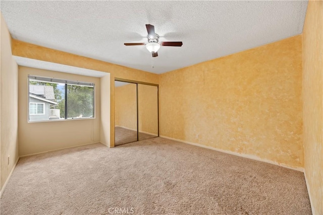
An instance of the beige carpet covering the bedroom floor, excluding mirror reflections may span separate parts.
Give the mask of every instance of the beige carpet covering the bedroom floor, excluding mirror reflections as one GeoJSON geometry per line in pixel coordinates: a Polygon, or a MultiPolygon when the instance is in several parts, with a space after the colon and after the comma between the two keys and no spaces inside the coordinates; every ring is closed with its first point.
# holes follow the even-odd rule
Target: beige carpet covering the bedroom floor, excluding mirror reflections
{"type": "Polygon", "coordinates": [[[21,158],[1,198],[2,215],[120,214],[119,208],[149,215],[311,214],[302,172],[160,137],[21,158]]]}

